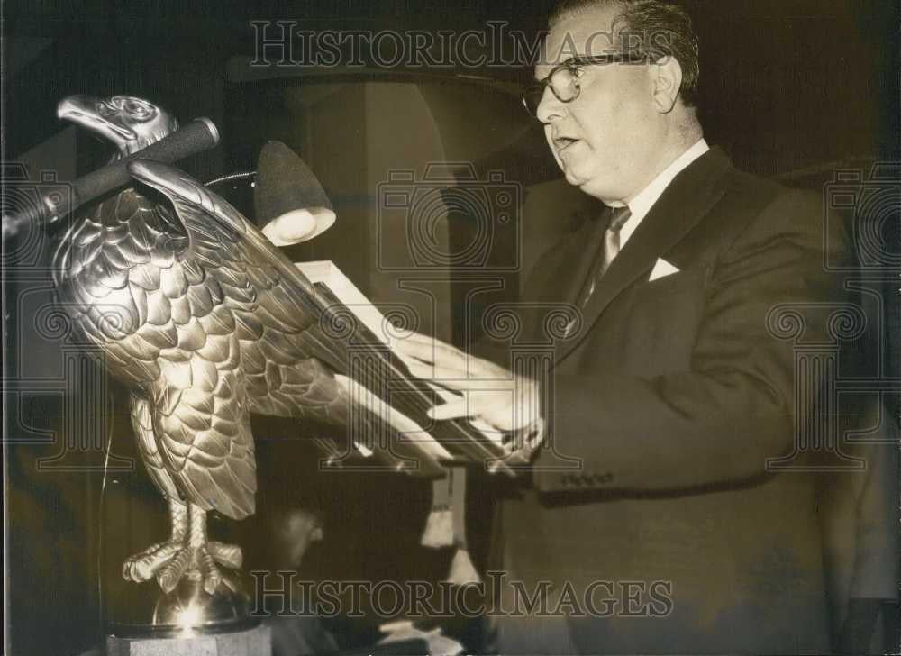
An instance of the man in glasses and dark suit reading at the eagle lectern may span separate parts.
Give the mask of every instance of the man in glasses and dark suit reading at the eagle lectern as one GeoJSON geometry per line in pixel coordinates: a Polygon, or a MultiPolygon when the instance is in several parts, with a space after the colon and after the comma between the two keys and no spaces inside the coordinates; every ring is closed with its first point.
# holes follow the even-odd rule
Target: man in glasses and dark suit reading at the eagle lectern
{"type": "Polygon", "coordinates": [[[423,360],[415,374],[468,392],[436,418],[545,426],[500,505],[494,610],[538,590],[547,612],[494,613],[497,647],[829,651],[814,480],[768,467],[794,451],[801,383],[773,322],[790,305],[803,339],[825,331],[841,297],[824,244],[834,259],[845,236],[815,196],[708,148],[696,38],[677,6],[567,3],[546,52],[527,105],[569,183],[610,208],[543,256],[528,285],[536,307],[578,309],[551,381],[419,337],[401,347],[423,360]],[[565,458],[578,469],[560,469],[565,458]]]}

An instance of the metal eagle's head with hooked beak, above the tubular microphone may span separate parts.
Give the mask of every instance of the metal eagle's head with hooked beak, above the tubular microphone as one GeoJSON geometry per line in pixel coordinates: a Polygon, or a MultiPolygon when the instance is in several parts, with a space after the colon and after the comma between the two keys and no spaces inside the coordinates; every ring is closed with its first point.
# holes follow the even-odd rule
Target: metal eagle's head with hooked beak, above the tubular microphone
{"type": "Polygon", "coordinates": [[[68,96],[57,106],[57,116],[112,141],[120,159],[159,141],[178,129],[171,114],[135,96],[68,96]]]}

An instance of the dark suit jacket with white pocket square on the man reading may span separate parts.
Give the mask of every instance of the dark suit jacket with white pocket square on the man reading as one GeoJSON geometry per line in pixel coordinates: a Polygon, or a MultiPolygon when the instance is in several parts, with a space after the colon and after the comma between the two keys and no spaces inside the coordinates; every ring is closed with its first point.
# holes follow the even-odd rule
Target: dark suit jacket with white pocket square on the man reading
{"type": "MultiPolygon", "coordinates": [[[[796,398],[793,342],[770,333],[768,313],[838,300],[826,223],[841,253],[819,198],[711,150],[651,208],[580,333],[560,342],[552,448],[501,504],[494,562],[526,589],[549,579],[552,600],[578,600],[564,604],[578,651],[828,651],[813,476],[766,464],[793,451],[796,398]],[[649,282],[658,258],[680,270],[649,282]],[[577,470],[559,469],[568,458],[577,470]]],[[[539,307],[575,299],[602,233],[588,223],[542,257],[529,285],[539,307]]],[[[800,310],[799,339],[818,339],[830,309],[800,310]]]]}

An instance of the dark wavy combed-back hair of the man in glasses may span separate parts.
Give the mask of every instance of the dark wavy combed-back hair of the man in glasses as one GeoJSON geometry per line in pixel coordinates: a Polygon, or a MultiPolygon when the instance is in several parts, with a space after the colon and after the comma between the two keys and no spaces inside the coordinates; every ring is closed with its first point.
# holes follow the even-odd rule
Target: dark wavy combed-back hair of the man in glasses
{"type": "Polygon", "coordinates": [[[696,105],[698,65],[697,35],[684,7],[666,0],[560,0],[551,10],[549,27],[564,15],[596,6],[619,6],[614,32],[627,32],[629,50],[647,55],[651,61],[676,58],[682,67],[679,95],[689,107],[696,105]]]}

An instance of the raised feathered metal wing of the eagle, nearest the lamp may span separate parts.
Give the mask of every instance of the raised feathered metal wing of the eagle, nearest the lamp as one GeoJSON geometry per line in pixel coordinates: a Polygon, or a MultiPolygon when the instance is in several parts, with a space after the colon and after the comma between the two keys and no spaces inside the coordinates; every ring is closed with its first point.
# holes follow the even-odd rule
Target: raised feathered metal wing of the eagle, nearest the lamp
{"type": "Polygon", "coordinates": [[[221,307],[216,317],[238,341],[250,410],[340,423],[345,394],[323,366],[337,349],[311,334],[323,314],[312,283],[232,205],[181,171],[143,160],[130,171],[168,196],[187,231],[179,260],[205,280],[186,290],[188,301],[211,305],[209,294],[211,307],[221,307]]]}

